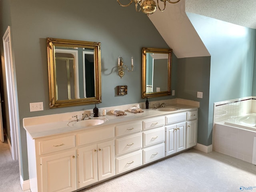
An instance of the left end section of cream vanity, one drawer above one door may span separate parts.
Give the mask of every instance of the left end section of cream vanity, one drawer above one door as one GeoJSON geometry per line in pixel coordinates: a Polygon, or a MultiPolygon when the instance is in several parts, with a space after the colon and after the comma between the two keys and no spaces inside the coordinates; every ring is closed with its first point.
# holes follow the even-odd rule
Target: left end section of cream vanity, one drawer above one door
{"type": "Polygon", "coordinates": [[[74,135],[33,140],[27,134],[31,192],[76,190],[76,143],[74,135]]]}

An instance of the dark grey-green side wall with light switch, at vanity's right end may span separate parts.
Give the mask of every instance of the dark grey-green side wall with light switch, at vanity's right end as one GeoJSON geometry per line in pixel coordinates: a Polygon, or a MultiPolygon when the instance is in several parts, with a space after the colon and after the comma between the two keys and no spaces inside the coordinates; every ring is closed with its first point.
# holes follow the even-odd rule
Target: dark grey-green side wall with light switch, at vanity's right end
{"type": "Polygon", "coordinates": [[[198,143],[208,142],[208,114],[211,57],[191,57],[178,59],[177,98],[200,102],[198,109],[198,143]],[[197,98],[203,92],[203,98],[197,98]]]}

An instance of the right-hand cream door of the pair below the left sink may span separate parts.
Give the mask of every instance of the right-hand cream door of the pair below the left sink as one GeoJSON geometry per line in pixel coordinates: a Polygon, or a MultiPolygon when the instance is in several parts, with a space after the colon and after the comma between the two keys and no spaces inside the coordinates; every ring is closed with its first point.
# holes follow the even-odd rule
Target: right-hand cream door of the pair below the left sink
{"type": "Polygon", "coordinates": [[[103,142],[98,146],[98,180],[115,175],[114,168],[114,140],[103,142]]]}

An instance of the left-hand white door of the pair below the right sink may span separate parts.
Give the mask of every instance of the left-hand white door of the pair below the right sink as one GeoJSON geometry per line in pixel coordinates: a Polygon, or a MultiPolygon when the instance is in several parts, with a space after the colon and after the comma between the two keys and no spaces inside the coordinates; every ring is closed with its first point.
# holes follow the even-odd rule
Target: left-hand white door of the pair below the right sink
{"type": "Polygon", "coordinates": [[[176,153],[176,125],[166,127],[166,156],[176,153]]]}

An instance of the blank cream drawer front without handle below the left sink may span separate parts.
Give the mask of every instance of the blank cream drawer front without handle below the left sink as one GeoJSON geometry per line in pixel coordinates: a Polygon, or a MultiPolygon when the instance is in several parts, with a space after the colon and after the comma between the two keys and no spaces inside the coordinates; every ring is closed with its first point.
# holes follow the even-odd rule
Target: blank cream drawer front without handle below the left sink
{"type": "Polygon", "coordinates": [[[105,127],[100,130],[86,131],[77,134],[77,145],[84,145],[92,142],[114,138],[114,127],[105,127]]]}

